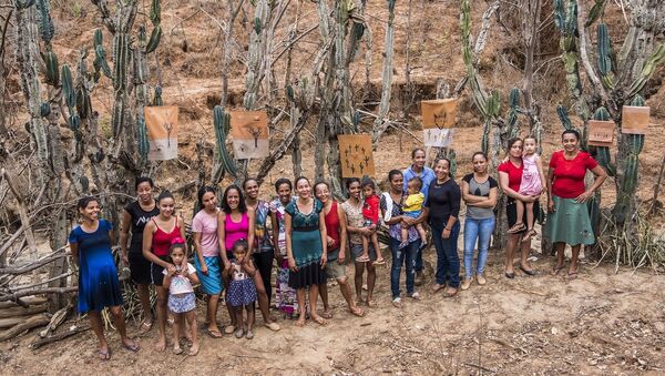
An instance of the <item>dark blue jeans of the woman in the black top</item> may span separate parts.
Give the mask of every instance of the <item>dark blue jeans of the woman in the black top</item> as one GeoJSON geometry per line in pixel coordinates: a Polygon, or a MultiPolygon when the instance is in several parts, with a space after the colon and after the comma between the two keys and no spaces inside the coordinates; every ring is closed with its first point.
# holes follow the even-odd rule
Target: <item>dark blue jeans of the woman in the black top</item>
{"type": "Polygon", "coordinates": [[[460,236],[460,222],[457,221],[450,231],[448,238],[441,237],[444,223],[431,224],[432,238],[437,248],[437,283],[448,284],[450,287],[460,285],[460,257],[457,254],[457,242],[460,236]]]}

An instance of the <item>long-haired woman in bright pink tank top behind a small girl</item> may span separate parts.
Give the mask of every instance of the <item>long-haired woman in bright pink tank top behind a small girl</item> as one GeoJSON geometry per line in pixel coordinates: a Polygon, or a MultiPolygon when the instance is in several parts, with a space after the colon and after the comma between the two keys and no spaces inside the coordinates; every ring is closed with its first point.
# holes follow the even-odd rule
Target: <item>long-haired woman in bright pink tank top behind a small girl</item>
{"type": "MultiPolygon", "coordinates": [[[[231,260],[233,258],[233,244],[241,238],[247,240],[247,244],[254,244],[254,224],[256,223],[253,211],[247,210],[245,196],[241,187],[233,184],[226,187],[222,197],[222,211],[217,215],[217,236],[219,241],[219,254],[224,263],[224,275],[231,275],[231,260]]],[[[223,278],[224,287],[228,288],[228,278],[223,278]]],[[[279,325],[270,319],[268,312],[268,297],[260,274],[254,275],[254,285],[258,296],[258,306],[264,317],[264,323],[270,331],[279,331],[279,325]]],[[[228,315],[232,317],[231,325],[224,329],[226,334],[233,334],[243,323],[235,322],[235,314],[229,303],[226,303],[228,315]]]]}

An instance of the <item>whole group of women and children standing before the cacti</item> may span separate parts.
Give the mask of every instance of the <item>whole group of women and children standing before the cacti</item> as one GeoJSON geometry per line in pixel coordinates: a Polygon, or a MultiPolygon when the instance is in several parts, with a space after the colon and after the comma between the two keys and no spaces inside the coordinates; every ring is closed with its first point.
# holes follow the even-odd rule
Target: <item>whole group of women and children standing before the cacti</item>
{"type": "MultiPolygon", "coordinates": [[[[390,289],[392,305],[402,307],[400,276],[406,268],[406,296],[421,299],[416,286],[422,285],[422,252],[427,248],[429,227],[437,252],[436,281],[432,293],[443,289],[447,296],[470,288],[473,280],[484,285],[488,250],[495,226],[499,187],[508,196],[509,237],[504,275],[514,278],[513,256],[521,251],[519,268],[526,275],[534,271],[529,264],[533,224],[540,213],[540,196],[548,197],[549,216],[545,234],[554,243],[557,263],[552,273],[564,267],[565,244],[572,246],[569,278],[577,275],[577,256],[582,244],[593,244],[594,234],[586,205],[603,181],[605,172],[586,152],[580,150],[580,134],[563,132],[563,150],[555,152],[545,175],[533,138],[513,139],[508,155],[498,166],[499,181],[489,172],[488,156],[472,156],[473,172],[463,176],[461,186],[450,174],[450,161],[436,161],[433,170],[426,166],[426,152],[416,149],[412,164],[405,171],[388,173],[388,191],[377,193],[369,179],[347,179],[348,199],[338,203],[326,182],[314,185],[307,177],[294,182],[275,182],[276,199],[259,199],[256,179],[242,186],[229,185],[221,203],[216,190],[204,186],[198,192],[200,212],[192,221],[194,250],[185,242],[185,224],[174,214],[175,199],[164,191],[153,196],[154,184],[149,177],[136,181],[137,200],[122,214],[120,245],[122,260],[131,270],[144,312],[142,333],[149,332],[155,317],[150,304],[149,286],[156,289],[157,350],[167,345],[166,323],[173,316],[173,352],[183,353],[181,333],[191,341],[190,355],[198,352],[195,296],[193,285],[200,284],[207,296],[204,332],[222,337],[217,324],[219,299],[226,304],[231,323],[224,333],[237,338],[254,337],[255,302],[264,325],[272,331],[280,327],[270,315],[274,305],[285,316],[297,318],[303,326],[309,318],[325,325],[332,312],[328,301],[328,278],[337,281],[350,314],[364,316],[375,307],[374,289],[377,266],[385,263],[378,244],[377,230],[387,226],[391,253],[390,289]],[[595,175],[585,186],[586,171],[595,175]],[[295,190],[295,192],[294,192],[295,190]],[[458,237],[460,206],[467,214],[463,232],[464,276],[460,278],[458,237]],[[268,219],[270,219],[268,226],[268,219]],[[268,228],[272,227],[272,232],[268,228]],[[478,250],[475,266],[473,260],[478,250]],[[187,262],[193,254],[194,265],[187,262]],[[276,261],[276,263],[275,263],[276,261]],[[355,266],[354,287],[347,278],[346,264],[355,266]],[[273,284],[273,268],[277,277],[273,284]],[[366,292],[365,292],[366,289],[366,292]],[[317,308],[321,297],[323,311],[317,308]],[[246,317],[244,312],[246,312],[246,317]],[[185,325],[186,322],[186,325],[185,325]],[[188,325],[188,329],[187,329],[188,325]]],[[[108,359],[100,312],[110,307],[122,344],[139,350],[139,344],[126,336],[122,315],[122,295],[116,267],[111,253],[112,225],[99,219],[95,197],[83,197],[78,204],[81,225],[70,234],[72,256],[79,265],[79,311],[88,313],[100,341],[100,357],[108,359]]]]}

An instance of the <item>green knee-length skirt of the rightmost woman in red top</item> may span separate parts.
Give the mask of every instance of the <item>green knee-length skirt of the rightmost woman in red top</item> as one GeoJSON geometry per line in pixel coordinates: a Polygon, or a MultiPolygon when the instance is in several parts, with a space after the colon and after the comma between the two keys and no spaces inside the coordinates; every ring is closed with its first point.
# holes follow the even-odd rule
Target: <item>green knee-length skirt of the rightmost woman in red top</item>
{"type": "Polygon", "coordinates": [[[552,196],[555,212],[548,214],[545,224],[545,235],[550,241],[570,245],[595,243],[586,204],[577,203],[574,199],[552,196]]]}

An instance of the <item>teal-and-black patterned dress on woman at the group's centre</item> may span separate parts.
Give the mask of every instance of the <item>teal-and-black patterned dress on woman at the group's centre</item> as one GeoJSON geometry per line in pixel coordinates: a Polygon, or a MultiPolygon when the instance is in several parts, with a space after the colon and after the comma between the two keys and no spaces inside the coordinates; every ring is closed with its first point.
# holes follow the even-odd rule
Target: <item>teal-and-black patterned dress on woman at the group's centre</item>
{"type": "Polygon", "coordinates": [[[286,213],[291,216],[291,252],[297,271],[289,272],[288,285],[293,288],[305,288],[326,282],[326,273],[321,270],[321,233],[319,231],[319,213],[323,204],[314,200],[309,213],[303,213],[296,202],[286,206],[286,213]]]}

